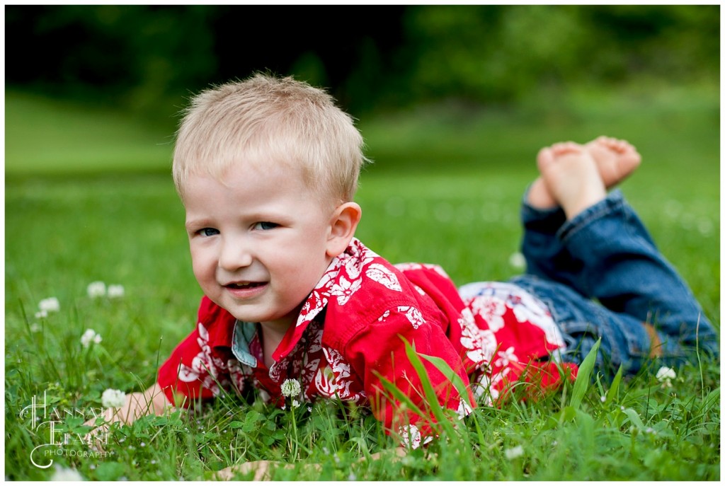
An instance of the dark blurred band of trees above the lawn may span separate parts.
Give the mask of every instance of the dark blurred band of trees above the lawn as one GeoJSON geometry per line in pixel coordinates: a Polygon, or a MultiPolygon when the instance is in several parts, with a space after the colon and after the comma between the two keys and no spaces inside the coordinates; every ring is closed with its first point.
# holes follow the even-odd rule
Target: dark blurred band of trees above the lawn
{"type": "Polygon", "coordinates": [[[157,120],[255,70],[326,86],[358,117],[513,104],[572,85],[718,80],[719,8],[10,5],[6,87],[157,120]]]}

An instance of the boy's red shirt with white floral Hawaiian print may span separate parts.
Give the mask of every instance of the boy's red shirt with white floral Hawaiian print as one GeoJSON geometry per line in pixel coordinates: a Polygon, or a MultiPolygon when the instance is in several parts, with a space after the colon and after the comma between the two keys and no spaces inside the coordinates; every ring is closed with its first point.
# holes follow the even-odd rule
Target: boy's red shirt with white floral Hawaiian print
{"type": "Polygon", "coordinates": [[[421,355],[443,359],[463,380],[467,400],[421,359],[439,403],[462,416],[470,411],[467,403],[494,403],[525,370],[529,381],[535,370],[543,387],[561,380],[561,365],[549,358],[563,340],[544,304],[529,293],[500,282],[459,292],[441,267],[394,266],[357,239],[312,290],[269,369],[257,324],[238,322],[206,297],[197,322],[159,369],[159,385],[171,403],[249,387],[278,406],[335,398],[370,406],[386,430],[413,445],[426,440],[434,419],[405,341],[421,355]],[[425,416],[400,407],[391,383],[425,416]]]}

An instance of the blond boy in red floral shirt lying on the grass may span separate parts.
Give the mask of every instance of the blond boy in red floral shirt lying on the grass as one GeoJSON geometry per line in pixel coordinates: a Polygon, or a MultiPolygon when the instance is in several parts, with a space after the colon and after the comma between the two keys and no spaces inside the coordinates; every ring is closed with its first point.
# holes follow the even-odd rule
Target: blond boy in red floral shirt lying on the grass
{"type": "Polygon", "coordinates": [[[196,329],[157,384],[107,419],[257,389],[278,406],[369,405],[416,446],[435,420],[406,343],[423,355],[439,403],[462,416],[517,380],[536,388],[571,377],[598,338],[602,369],[637,372],[695,346],[717,354],[692,293],[621,193],[607,193],[639,165],[628,143],[542,149],[523,202],[526,275],[460,291],[440,267],[393,266],[355,239],[362,146],[330,96],[290,78],[256,75],[194,98],[173,174],[204,291],[196,329]],[[465,396],[425,356],[445,361],[465,396]]]}

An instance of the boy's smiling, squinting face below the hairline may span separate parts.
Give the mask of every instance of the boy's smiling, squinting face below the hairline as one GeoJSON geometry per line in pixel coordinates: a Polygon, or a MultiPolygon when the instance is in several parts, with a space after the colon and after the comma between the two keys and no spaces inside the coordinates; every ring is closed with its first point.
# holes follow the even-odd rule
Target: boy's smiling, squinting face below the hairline
{"type": "MultiPolygon", "coordinates": [[[[236,319],[291,325],[332,260],[331,217],[294,169],[231,167],[183,189],[194,276],[236,319]]],[[[333,255],[335,256],[335,255],[333,255]]]]}

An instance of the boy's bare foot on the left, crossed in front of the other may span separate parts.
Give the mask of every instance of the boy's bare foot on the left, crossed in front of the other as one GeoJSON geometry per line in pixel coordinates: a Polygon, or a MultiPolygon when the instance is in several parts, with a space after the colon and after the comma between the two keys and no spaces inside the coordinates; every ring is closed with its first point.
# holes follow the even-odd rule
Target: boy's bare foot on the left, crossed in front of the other
{"type": "Polygon", "coordinates": [[[607,196],[595,159],[577,143],[555,143],[542,148],[537,165],[544,188],[568,219],[607,196]]]}

